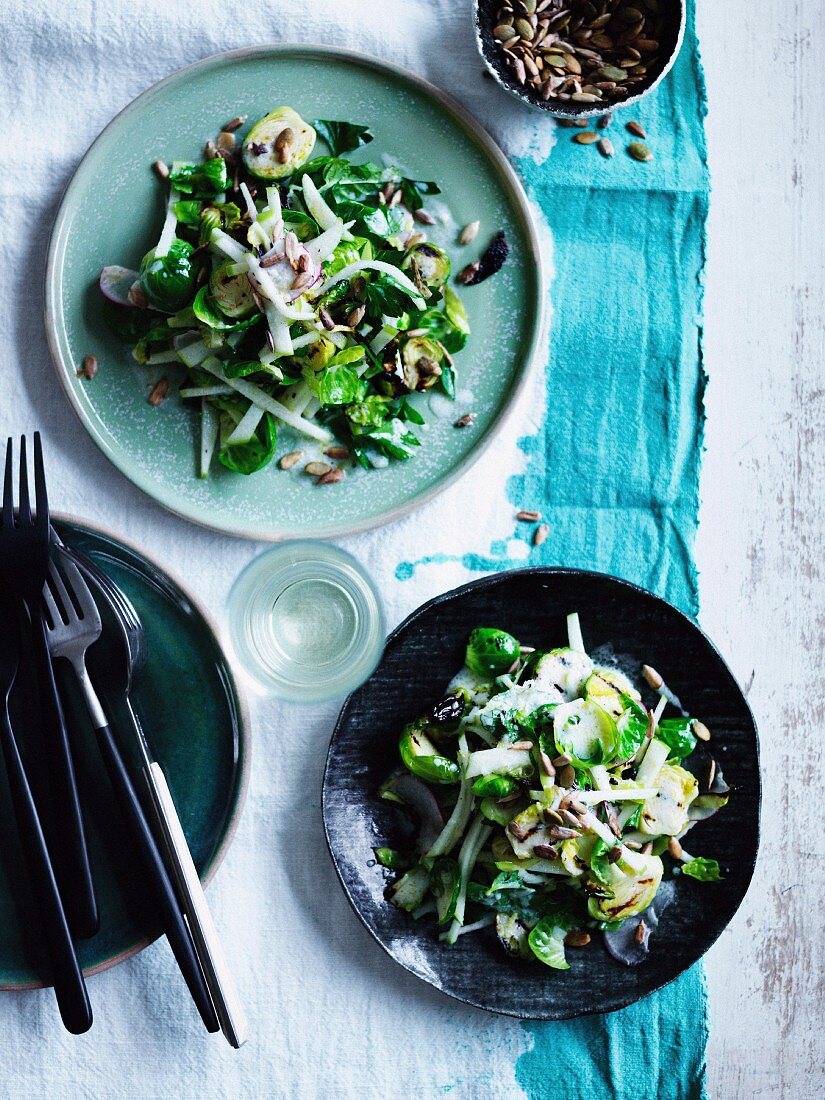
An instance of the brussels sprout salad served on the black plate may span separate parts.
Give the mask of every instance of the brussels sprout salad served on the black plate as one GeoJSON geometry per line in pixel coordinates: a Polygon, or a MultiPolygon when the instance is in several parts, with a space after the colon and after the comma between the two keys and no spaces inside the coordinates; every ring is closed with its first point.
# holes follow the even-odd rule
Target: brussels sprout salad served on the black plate
{"type": "Polygon", "coordinates": [[[404,728],[405,767],[381,791],[418,820],[415,849],[375,856],[399,872],[389,900],[435,915],[448,944],[494,926],[508,955],[564,970],[565,947],[600,931],[635,965],[668,880],[721,878],[682,839],[727,803],[728,787],[713,760],[701,778],[684,766],[710,733],[684,713],[664,716],[681,705],[653,669],[642,670],[658,691],[649,708],[613,660],[587,654],[578,615],[568,631],[569,645],[549,651],[472,631],[464,668],[404,728]]]}

